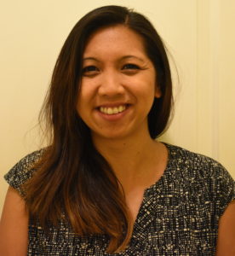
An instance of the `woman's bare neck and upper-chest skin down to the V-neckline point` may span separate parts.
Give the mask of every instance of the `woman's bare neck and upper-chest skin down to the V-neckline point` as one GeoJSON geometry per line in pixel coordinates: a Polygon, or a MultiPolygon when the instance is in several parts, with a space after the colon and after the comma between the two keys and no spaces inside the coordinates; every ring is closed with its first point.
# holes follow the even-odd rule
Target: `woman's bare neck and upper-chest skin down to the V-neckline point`
{"type": "Polygon", "coordinates": [[[148,133],[119,140],[94,138],[94,143],[112,166],[134,223],[145,189],[163,175],[168,150],[162,143],[152,140],[148,133]]]}

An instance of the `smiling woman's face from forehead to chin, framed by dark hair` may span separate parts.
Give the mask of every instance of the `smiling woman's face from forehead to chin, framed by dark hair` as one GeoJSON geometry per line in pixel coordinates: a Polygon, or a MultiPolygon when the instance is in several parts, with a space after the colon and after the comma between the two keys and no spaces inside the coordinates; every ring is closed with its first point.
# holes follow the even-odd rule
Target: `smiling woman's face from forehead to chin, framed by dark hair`
{"type": "Polygon", "coordinates": [[[95,138],[148,132],[147,115],[161,93],[143,39],[125,26],[110,26],[89,38],[77,112],[95,138]]]}

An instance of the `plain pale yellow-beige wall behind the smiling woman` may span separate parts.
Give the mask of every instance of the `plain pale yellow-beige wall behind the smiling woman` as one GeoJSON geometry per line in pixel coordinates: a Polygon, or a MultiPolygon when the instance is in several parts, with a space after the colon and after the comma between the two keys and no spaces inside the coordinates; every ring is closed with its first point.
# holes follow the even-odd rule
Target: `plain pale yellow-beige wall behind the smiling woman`
{"type": "Polygon", "coordinates": [[[39,147],[37,113],[54,61],[68,32],[90,9],[105,4],[135,8],[152,20],[174,56],[175,119],[163,137],[226,166],[235,177],[235,2],[21,0],[0,10],[0,211],[3,174],[39,147]]]}

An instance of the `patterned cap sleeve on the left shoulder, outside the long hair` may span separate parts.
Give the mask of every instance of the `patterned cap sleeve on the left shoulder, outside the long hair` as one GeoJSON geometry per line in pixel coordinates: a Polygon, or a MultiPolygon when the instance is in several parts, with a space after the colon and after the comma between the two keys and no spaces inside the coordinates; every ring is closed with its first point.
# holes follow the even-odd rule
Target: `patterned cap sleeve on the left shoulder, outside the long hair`
{"type": "Polygon", "coordinates": [[[36,170],[35,164],[42,159],[45,151],[46,148],[41,148],[31,154],[27,154],[4,175],[5,180],[11,187],[18,190],[20,195],[23,195],[20,186],[32,177],[32,173],[36,170]]]}

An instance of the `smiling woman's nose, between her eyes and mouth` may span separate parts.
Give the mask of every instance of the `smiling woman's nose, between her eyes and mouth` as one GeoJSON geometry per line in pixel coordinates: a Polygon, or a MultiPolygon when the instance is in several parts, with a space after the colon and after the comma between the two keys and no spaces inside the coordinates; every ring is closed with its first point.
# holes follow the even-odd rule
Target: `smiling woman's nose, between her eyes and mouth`
{"type": "Polygon", "coordinates": [[[117,96],[123,94],[123,91],[122,80],[118,73],[106,72],[101,75],[98,90],[100,96],[117,96]]]}

